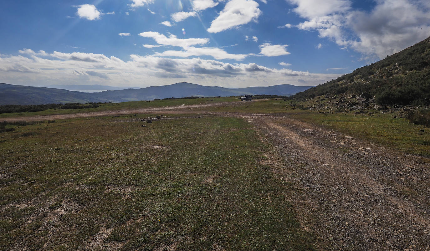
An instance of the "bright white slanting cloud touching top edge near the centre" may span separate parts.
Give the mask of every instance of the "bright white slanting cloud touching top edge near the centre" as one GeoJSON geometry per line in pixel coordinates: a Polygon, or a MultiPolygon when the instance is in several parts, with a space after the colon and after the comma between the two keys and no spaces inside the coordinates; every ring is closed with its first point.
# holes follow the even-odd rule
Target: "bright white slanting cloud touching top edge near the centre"
{"type": "Polygon", "coordinates": [[[208,29],[211,33],[225,31],[251,21],[257,21],[261,10],[258,9],[258,3],[253,0],[231,0],[218,17],[212,21],[208,29]]]}

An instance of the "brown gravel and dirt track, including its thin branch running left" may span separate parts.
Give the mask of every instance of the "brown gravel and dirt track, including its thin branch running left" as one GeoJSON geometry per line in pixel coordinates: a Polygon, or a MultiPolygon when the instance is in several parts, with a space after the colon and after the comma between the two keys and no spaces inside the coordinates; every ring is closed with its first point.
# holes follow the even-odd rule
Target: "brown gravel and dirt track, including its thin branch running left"
{"type": "MultiPolygon", "coordinates": [[[[218,104],[7,119],[190,113],[218,104]]],[[[201,112],[199,112],[201,113],[201,112]]],[[[295,184],[288,199],[320,250],[430,251],[430,159],[310,125],[286,114],[213,113],[246,119],[275,149],[267,163],[295,184]]]]}

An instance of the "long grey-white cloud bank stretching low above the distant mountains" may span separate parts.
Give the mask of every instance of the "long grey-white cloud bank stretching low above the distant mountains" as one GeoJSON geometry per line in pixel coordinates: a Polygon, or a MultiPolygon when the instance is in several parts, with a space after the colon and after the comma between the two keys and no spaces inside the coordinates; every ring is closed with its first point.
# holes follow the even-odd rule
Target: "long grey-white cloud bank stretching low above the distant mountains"
{"type": "Polygon", "coordinates": [[[279,83],[316,85],[340,76],[277,70],[252,62],[231,64],[200,58],[130,55],[129,61],[122,61],[116,57],[83,52],[45,52],[45,55],[34,55],[37,53],[31,49],[23,49],[22,52],[28,56],[0,55],[4,82],[38,86],[40,83],[52,85],[61,81],[64,84],[79,84],[85,81],[111,86],[123,83],[146,87],[172,84],[178,82],[178,78],[184,78],[187,82],[206,86],[246,87],[279,83]]]}

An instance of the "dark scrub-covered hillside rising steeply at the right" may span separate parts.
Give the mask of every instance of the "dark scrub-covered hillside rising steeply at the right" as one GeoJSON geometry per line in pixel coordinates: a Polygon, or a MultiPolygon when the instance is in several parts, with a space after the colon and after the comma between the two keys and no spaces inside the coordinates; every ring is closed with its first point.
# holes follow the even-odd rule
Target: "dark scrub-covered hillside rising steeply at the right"
{"type": "Polygon", "coordinates": [[[336,80],[297,93],[293,98],[364,92],[374,96],[378,104],[430,104],[430,37],[336,80]]]}

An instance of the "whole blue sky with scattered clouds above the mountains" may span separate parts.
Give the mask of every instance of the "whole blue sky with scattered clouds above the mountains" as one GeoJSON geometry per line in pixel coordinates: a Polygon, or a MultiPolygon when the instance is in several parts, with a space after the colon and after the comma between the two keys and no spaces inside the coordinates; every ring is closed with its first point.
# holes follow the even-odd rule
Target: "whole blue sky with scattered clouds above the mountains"
{"type": "Polygon", "coordinates": [[[429,0],[13,0],[0,83],[314,86],[430,36],[429,0]]]}

